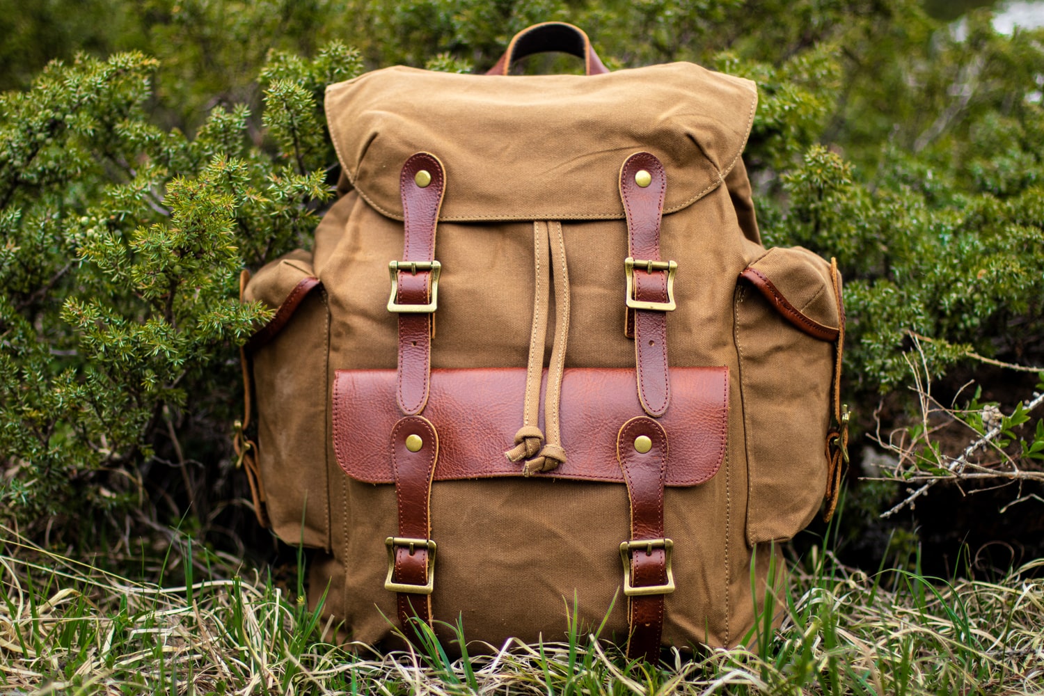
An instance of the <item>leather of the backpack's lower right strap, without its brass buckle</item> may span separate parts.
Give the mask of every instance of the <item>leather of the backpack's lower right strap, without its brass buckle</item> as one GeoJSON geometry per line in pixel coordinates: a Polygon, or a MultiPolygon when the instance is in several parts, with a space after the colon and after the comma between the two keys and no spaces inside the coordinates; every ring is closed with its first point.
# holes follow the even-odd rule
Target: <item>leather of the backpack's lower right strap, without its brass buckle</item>
{"type": "MultiPolygon", "coordinates": [[[[631,539],[664,538],[663,487],[667,478],[667,434],[659,423],[638,416],[620,428],[617,456],[631,499],[631,539]],[[652,449],[645,454],[635,450],[635,438],[645,435],[652,449]]],[[[635,587],[664,584],[667,581],[667,554],[664,549],[631,554],[631,583],[635,587]]],[[[627,658],[644,657],[657,664],[663,634],[664,595],[628,598],[630,637],[627,658]]]]}

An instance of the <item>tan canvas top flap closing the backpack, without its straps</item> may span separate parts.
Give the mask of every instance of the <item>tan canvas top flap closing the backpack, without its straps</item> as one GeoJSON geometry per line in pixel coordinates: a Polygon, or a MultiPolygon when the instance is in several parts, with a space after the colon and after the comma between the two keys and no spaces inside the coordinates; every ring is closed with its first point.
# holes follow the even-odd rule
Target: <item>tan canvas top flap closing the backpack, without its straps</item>
{"type": "Polygon", "coordinates": [[[395,67],[331,85],[330,135],[349,181],[402,219],[399,173],[427,151],[446,169],[440,219],[623,218],[624,160],[667,171],[664,212],[717,188],[746,143],[748,79],[672,63],[604,75],[489,76],[395,67]]]}

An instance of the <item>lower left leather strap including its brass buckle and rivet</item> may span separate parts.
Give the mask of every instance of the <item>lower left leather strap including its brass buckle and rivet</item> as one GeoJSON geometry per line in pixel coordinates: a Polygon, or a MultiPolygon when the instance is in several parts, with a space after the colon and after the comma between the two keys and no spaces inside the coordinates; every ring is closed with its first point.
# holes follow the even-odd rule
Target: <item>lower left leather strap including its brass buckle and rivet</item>
{"type": "Polygon", "coordinates": [[[392,463],[399,503],[399,533],[384,539],[388,572],[384,589],[398,593],[399,625],[431,624],[431,593],[435,586],[435,551],[430,538],[431,479],[438,459],[434,426],[420,415],[407,415],[392,431],[392,463]]]}

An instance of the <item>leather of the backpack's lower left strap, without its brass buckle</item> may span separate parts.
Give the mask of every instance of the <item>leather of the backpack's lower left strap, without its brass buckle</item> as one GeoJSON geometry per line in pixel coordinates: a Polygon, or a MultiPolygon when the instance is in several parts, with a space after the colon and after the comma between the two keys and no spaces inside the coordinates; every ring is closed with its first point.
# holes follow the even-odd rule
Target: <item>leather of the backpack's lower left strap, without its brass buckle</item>
{"type": "MultiPolygon", "coordinates": [[[[395,493],[399,503],[399,533],[396,536],[427,539],[431,534],[429,503],[431,477],[438,459],[438,436],[434,427],[420,415],[407,415],[392,430],[392,464],[395,473],[395,493]],[[424,446],[418,452],[406,449],[406,438],[419,435],[424,446]]],[[[427,547],[399,546],[395,550],[396,582],[424,585],[428,581],[427,547]]],[[[410,619],[431,623],[431,595],[398,593],[399,624],[407,630],[410,619]]]]}

